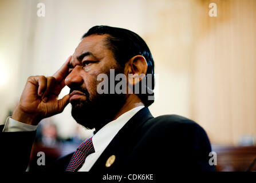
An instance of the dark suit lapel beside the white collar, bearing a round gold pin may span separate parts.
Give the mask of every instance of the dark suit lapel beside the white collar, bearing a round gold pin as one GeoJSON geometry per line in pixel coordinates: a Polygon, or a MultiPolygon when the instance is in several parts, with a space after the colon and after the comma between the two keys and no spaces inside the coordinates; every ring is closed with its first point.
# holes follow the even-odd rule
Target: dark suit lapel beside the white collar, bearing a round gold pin
{"type": "MultiPolygon", "coordinates": [[[[124,126],[119,130],[113,140],[109,143],[107,148],[95,162],[95,164],[90,169],[90,172],[93,171],[108,171],[113,170],[118,167],[119,164],[125,161],[127,154],[131,151],[129,145],[133,143],[136,130],[139,129],[145,121],[153,118],[148,108],[143,108],[139,110],[124,126]],[[106,167],[105,164],[107,160],[111,162],[113,160],[113,155],[115,156],[115,161],[112,162],[113,165],[106,167]],[[111,158],[109,158],[111,157],[111,158]]],[[[109,162],[108,161],[108,162],[109,162]]]]}

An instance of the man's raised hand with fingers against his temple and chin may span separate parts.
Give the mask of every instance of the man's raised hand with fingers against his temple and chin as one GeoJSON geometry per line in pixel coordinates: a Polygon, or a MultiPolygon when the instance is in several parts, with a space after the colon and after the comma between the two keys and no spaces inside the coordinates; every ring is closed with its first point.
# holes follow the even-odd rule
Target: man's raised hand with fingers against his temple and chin
{"type": "Polygon", "coordinates": [[[60,100],[57,98],[65,86],[71,58],[70,56],[52,77],[30,76],[11,118],[25,124],[37,125],[42,119],[61,113],[69,103],[69,94],[60,100]]]}

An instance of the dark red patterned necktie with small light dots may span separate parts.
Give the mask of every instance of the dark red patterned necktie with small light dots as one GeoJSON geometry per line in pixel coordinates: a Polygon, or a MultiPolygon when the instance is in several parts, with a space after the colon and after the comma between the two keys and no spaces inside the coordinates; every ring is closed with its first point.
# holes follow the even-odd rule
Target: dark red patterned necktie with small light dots
{"type": "Polygon", "coordinates": [[[94,152],[95,150],[92,144],[92,137],[90,137],[86,141],[82,142],[79,148],[77,148],[76,152],[74,152],[73,157],[69,162],[68,168],[66,168],[66,172],[75,172],[78,166],[84,162],[85,158],[94,152]]]}

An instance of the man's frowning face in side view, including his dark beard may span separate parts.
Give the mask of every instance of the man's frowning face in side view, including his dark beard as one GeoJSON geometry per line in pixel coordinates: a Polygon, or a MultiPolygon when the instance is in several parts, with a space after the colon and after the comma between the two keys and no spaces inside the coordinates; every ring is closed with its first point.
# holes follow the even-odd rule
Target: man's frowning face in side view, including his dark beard
{"type": "Polygon", "coordinates": [[[124,104],[123,94],[99,94],[97,75],[123,73],[111,50],[105,46],[107,35],[89,35],[82,39],[69,64],[65,84],[70,87],[72,116],[86,128],[100,129],[110,122],[124,104]]]}

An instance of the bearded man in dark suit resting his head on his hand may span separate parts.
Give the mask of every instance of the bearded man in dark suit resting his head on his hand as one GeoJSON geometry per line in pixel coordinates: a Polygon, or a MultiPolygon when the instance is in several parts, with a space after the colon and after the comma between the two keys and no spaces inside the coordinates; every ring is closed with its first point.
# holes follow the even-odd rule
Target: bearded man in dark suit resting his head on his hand
{"type": "Polygon", "coordinates": [[[215,170],[208,163],[210,142],[198,124],[176,115],[152,117],[147,107],[153,103],[153,74],[151,52],[139,35],[92,27],[56,74],[27,79],[13,116],[1,128],[1,168],[26,170],[38,123],[70,102],[73,118],[95,132],[50,171],[215,170]],[[125,85],[117,87],[122,76],[125,85]],[[70,93],[57,100],[65,85],[70,93]]]}

